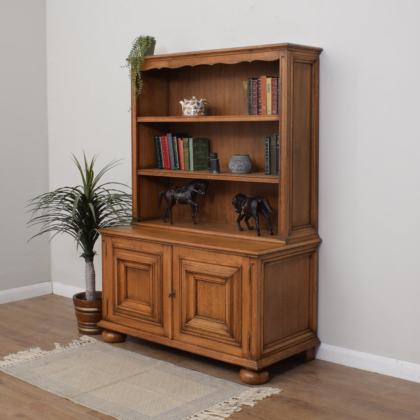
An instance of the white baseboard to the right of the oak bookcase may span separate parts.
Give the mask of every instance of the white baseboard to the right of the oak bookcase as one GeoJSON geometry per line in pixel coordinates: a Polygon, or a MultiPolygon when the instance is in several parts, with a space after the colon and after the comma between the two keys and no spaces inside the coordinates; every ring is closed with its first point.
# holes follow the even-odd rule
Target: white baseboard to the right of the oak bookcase
{"type": "Polygon", "coordinates": [[[377,354],[359,352],[344,347],[321,343],[315,352],[315,357],[327,362],[338,363],[382,375],[420,382],[420,364],[378,356],[377,354]]]}

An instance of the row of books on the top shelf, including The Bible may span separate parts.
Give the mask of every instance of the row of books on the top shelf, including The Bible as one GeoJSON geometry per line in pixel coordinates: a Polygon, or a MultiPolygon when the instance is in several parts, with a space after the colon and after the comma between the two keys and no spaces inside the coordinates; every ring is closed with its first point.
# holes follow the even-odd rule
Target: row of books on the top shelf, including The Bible
{"type": "Polygon", "coordinates": [[[278,77],[249,77],[247,88],[248,115],[278,115],[280,108],[278,77]]]}

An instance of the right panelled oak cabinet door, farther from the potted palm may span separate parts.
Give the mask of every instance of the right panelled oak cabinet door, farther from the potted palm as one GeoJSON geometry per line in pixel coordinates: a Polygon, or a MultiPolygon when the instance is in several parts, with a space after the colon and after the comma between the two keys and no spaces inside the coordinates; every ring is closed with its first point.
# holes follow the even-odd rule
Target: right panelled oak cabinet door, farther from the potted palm
{"type": "Polygon", "coordinates": [[[173,247],[173,338],[249,354],[249,258],[173,247]]]}

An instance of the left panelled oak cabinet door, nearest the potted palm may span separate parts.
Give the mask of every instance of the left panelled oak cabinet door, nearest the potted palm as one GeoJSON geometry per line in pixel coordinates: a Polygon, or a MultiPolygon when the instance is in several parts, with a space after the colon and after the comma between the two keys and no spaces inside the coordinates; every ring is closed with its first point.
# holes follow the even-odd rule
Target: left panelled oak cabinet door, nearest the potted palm
{"type": "Polygon", "coordinates": [[[171,247],[111,236],[102,240],[104,318],[172,338],[171,247]]]}

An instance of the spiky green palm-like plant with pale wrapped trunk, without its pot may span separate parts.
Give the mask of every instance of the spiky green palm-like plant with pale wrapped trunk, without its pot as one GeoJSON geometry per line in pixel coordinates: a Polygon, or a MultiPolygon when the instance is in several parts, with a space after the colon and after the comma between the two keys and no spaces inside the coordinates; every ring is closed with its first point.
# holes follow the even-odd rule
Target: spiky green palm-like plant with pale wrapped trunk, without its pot
{"type": "MultiPolygon", "coordinates": [[[[82,249],[81,257],[85,260],[86,299],[96,300],[95,267],[93,249],[100,236],[99,229],[129,223],[132,218],[131,194],[118,188],[128,187],[118,182],[98,185],[102,176],[119,165],[120,160],[113,160],[95,176],[93,166],[97,155],[88,163],[85,153],[84,168],[73,155],[81,175],[82,184],[75,187],[61,187],[52,192],[41,194],[29,201],[28,212],[32,213],[29,226],[40,225],[35,236],[46,232],[68,233],[73,236],[82,249]]],[[[129,187],[128,187],[129,188],[129,187]]],[[[31,240],[30,238],[29,240],[31,240]]],[[[51,240],[50,239],[50,240],[51,240]]]]}

